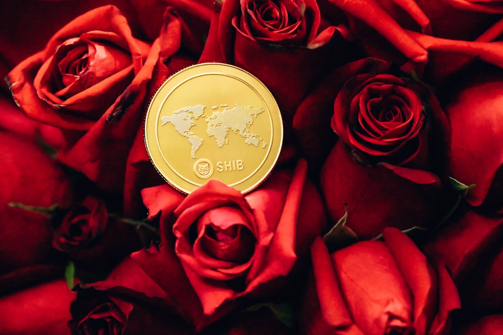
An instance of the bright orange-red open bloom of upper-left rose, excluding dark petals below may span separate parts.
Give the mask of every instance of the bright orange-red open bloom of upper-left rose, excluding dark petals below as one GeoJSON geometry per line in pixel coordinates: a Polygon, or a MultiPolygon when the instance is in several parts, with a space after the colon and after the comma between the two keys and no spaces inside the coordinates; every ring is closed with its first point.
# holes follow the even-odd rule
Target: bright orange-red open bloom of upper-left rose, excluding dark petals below
{"type": "Polygon", "coordinates": [[[101,7],[61,28],[8,80],[31,118],[87,130],[131,83],[149,49],[116,7],[101,7]]]}

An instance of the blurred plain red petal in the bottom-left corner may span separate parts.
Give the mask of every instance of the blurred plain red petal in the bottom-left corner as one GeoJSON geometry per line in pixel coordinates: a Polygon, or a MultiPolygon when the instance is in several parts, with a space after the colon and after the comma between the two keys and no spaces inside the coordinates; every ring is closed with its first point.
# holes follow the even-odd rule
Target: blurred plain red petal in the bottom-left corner
{"type": "Polygon", "coordinates": [[[68,333],[70,302],[75,298],[62,279],[0,298],[0,332],[5,335],[68,333]]]}

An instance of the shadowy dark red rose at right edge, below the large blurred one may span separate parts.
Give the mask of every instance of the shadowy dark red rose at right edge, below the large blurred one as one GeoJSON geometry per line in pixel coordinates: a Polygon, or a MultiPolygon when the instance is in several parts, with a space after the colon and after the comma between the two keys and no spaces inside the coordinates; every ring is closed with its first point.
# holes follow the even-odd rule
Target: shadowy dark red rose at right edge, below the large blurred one
{"type": "Polygon", "coordinates": [[[463,311],[490,312],[501,305],[502,239],[503,216],[463,206],[425,246],[429,259],[451,273],[463,311]]]}

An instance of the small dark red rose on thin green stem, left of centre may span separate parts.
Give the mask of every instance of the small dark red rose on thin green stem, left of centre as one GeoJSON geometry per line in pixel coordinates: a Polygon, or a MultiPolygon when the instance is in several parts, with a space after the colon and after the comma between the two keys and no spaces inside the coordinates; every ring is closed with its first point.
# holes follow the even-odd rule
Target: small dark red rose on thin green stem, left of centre
{"type": "Polygon", "coordinates": [[[107,228],[107,208],[99,198],[88,196],[65,212],[52,239],[52,246],[59,251],[86,245],[107,228]]]}

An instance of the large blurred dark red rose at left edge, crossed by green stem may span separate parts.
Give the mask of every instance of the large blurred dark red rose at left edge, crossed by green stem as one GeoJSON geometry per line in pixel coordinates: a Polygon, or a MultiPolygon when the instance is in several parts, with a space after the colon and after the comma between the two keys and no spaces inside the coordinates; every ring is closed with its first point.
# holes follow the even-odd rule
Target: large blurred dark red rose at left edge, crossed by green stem
{"type": "Polygon", "coordinates": [[[50,218],[30,209],[56,204],[68,206],[72,192],[61,167],[34,143],[0,131],[0,146],[3,162],[0,173],[0,287],[3,291],[36,283],[49,275],[41,267],[59,263],[51,247],[50,218]],[[30,275],[30,269],[40,277],[30,275]]]}

